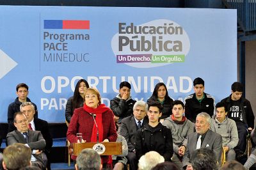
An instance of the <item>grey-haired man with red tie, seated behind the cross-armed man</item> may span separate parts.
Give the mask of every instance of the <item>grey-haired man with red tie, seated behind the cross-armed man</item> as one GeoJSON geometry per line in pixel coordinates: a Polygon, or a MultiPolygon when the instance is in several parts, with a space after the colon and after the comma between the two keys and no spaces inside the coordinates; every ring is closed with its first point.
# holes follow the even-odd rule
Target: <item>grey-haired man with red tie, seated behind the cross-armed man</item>
{"type": "MultiPolygon", "coordinates": [[[[31,102],[24,102],[20,105],[20,112],[23,112],[28,119],[29,130],[38,130],[42,133],[45,139],[45,149],[44,153],[47,156],[47,169],[51,170],[50,152],[52,148],[52,136],[49,131],[48,123],[45,120],[41,120],[35,117],[35,107],[31,102]]],[[[9,127],[10,132],[16,130],[13,126],[9,127]]]]}

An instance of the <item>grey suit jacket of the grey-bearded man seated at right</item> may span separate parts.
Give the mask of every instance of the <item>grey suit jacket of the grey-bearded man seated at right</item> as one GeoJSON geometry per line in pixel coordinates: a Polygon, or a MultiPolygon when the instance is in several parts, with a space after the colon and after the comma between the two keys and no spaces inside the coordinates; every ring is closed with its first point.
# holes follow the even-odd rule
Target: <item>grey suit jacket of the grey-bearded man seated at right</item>
{"type": "MultiPolygon", "coordinates": [[[[191,164],[191,155],[193,151],[196,150],[197,135],[198,134],[196,132],[193,132],[192,134],[188,135],[188,144],[184,157],[182,159],[183,166],[191,164]]],[[[219,162],[219,165],[221,164],[220,158],[222,153],[222,138],[220,134],[208,130],[207,134],[205,135],[204,141],[201,145],[201,148],[209,148],[210,150],[214,151],[216,158],[219,162]]]]}

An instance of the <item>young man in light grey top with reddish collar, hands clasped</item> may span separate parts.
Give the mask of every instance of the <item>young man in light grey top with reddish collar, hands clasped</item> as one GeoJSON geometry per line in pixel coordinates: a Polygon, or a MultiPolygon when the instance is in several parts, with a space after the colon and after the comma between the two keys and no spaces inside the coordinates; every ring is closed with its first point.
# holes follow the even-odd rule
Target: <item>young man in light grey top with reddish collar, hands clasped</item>
{"type": "Polygon", "coordinates": [[[182,168],[181,160],[186,151],[188,135],[194,132],[195,123],[183,116],[185,111],[183,102],[175,100],[172,105],[172,115],[164,120],[163,125],[172,132],[174,153],[172,162],[182,168]]]}

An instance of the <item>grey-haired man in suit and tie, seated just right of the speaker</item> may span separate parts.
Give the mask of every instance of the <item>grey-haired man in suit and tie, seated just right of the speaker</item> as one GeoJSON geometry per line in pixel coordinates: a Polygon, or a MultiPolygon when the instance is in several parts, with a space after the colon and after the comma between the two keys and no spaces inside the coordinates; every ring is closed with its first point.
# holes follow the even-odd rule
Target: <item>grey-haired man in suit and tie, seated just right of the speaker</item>
{"type": "Polygon", "coordinates": [[[128,144],[127,159],[131,170],[138,169],[138,159],[135,154],[135,135],[139,128],[148,123],[147,115],[148,105],[146,102],[138,101],[133,106],[133,115],[122,120],[120,134],[125,137],[128,144]]]}

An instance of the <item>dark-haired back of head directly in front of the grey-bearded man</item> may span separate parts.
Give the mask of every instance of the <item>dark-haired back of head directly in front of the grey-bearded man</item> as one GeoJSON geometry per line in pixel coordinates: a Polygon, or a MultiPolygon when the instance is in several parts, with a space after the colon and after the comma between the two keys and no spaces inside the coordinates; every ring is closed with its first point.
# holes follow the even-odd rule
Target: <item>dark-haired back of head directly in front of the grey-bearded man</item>
{"type": "Polygon", "coordinates": [[[216,155],[212,150],[208,148],[200,148],[195,150],[191,156],[191,164],[193,169],[196,170],[217,170],[216,155]]]}

